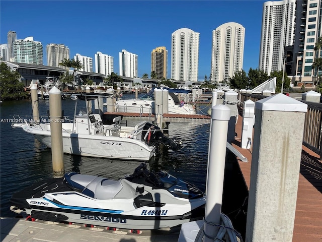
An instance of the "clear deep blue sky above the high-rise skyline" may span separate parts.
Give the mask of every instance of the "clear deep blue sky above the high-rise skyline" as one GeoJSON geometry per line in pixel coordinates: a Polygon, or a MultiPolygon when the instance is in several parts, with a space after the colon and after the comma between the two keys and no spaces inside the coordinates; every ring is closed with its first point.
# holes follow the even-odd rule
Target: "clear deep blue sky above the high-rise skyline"
{"type": "Polygon", "coordinates": [[[245,27],[243,70],[257,69],[263,4],[267,1],[0,1],[0,43],[9,31],[17,39],[32,36],[43,45],[64,44],[70,58],[76,53],[93,58],[100,51],[114,57],[119,73],[119,52],[138,55],[138,76],[151,73],[151,51],[168,49],[171,78],[171,34],[180,28],[200,33],[198,81],[211,70],[212,31],[224,23],[245,27]]]}

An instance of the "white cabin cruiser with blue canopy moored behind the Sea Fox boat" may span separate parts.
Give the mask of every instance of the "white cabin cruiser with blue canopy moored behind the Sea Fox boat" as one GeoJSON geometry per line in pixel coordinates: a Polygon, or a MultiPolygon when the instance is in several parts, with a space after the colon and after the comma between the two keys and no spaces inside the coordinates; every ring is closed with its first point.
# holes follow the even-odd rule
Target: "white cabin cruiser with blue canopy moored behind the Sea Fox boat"
{"type": "MultiPolygon", "coordinates": [[[[173,89],[161,87],[160,90],[166,89],[168,94],[168,113],[170,114],[196,114],[193,105],[181,101],[178,94],[188,94],[191,90],[173,89]]],[[[107,105],[107,103],[104,103],[107,105]]],[[[119,99],[116,101],[115,109],[117,112],[135,112],[135,113],[155,113],[154,109],[154,89],[144,94],[138,99],[119,99]]]]}

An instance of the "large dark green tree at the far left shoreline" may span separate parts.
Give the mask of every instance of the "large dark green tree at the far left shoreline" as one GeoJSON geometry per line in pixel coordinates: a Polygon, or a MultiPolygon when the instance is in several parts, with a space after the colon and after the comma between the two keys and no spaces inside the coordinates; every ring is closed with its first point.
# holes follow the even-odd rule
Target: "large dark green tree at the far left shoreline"
{"type": "Polygon", "coordinates": [[[21,100],[28,98],[24,84],[20,82],[20,74],[11,71],[6,63],[0,64],[1,100],[21,100]]]}

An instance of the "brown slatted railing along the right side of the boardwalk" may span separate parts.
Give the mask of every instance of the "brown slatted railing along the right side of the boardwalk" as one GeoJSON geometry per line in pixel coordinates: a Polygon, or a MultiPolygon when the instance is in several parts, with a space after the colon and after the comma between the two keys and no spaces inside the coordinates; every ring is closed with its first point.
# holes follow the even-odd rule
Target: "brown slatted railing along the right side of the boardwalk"
{"type": "MultiPolygon", "coordinates": [[[[240,93],[240,105],[246,100],[256,102],[267,96],[250,93],[240,93]]],[[[305,115],[303,145],[318,154],[322,158],[322,103],[308,102],[298,100],[307,104],[307,112],[305,115]]],[[[287,122],[287,120],[285,120],[287,122]]],[[[296,127],[294,127],[296,129],[296,127]]]]}

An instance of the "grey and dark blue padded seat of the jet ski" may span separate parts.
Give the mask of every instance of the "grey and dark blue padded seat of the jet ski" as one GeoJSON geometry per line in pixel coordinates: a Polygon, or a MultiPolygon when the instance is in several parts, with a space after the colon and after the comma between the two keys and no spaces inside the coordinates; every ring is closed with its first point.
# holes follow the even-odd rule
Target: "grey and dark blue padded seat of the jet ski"
{"type": "Polygon", "coordinates": [[[65,174],[65,180],[70,187],[95,199],[113,199],[123,188],[119,180],[76,172],[65,174]]]}

